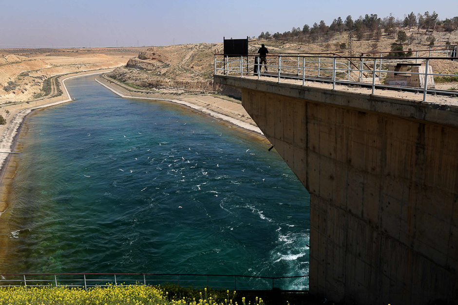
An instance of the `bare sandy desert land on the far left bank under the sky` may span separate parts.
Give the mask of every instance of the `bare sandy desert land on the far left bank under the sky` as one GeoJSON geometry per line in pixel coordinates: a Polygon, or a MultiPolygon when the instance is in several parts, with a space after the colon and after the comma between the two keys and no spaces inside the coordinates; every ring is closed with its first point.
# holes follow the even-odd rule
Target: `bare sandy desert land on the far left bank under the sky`
{"type": "Polygon", "coordinates": [[[0,106],[47,95],[54,75],[119,67],[142,50],[146,48],[0,50],[0,106]]]}

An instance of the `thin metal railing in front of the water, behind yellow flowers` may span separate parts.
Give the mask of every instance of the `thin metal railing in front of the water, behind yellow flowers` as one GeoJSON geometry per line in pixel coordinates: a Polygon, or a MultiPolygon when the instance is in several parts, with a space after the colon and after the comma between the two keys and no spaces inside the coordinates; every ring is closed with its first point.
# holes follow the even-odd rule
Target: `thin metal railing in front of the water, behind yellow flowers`
{"type": "MultiPolygon", "coordinates": [[[[220,274],[162,273],[9,273],[0,274],[0,287],[92,287],[163,285],[233,290],[269,290],[284,287],[285,281],[308,275],[266,277],[220,274]]],[[[287,289],[291,290],[291,289],[287,289]]]]}

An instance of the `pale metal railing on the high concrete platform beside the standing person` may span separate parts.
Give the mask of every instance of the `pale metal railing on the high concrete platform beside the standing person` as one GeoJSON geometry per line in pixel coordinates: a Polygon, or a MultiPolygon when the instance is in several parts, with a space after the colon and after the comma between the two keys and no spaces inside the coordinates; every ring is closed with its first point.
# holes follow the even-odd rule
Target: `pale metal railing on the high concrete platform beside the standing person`
{"type": "MultiPolygon", "coordinates": [[[[421,50],[420,50],[421,51],[421,50]]],[[[420,52],[418,51],[418,52],[420,52]]],[[[429,51],[429,50],[427,50],[429,51]]],[[[449,50],[450,51],[450,50],[449,50]]],[[[417,52],[417,51],[414,51],[417,52]]],[[[423,93],[423,102],[426,101],[428,93],[456,95],[458,90],[438,90],[431,88],[428,84],[429,77],[445,76],[458,80],[456,74],[431,73],[429,71],[430,60],[445,59],[444,57],[367,57],[367,56],[341,56],[339,54],[301,54],[283,53],[267,55],[267,64],[260,63],[258,54],[247,55],[214,55],[214,74],[234,75],[241,77],[262,76],[275,77],[280,83],[282,79],[302,81],[319,81],[336,85],[360,85],[371,89],[395,89],[415,93],[423,93]],[[425,63],[424,72],[412,71],[389,71],[390,64],[403,64],[407,66],[418,66],[418,61],[425,63]],[[264,67],[263,67],[264,66],[264,67]],[[264,68],[264,72],[261,72],[264,68]],[[266,70],[267,69],[267,70],[266,70]],[[423,79],[422,87],[400,86],[385,84],[382,80],[388,73],[419,75],[423,79]],[[370,83],[371,81],[371,83],[370,83]],[[376,82],[377,81],[377,82],[376,82]]],[[[447,57],[447,59],[458,60],[458,57],[447,57]]]]}

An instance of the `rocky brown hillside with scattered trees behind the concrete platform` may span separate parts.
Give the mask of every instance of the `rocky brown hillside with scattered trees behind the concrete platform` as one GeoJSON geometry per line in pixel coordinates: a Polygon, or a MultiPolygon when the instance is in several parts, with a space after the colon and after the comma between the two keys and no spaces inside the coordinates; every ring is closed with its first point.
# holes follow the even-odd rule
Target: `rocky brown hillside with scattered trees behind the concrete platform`
{"type": "MultiPolygon", "coordinates": [[[[430,32],[417,29],[403,29],[410,37],[403,43],[404,50],[429,49],[428,37],[430,32]],[[410,43],[411,42],[411,43],[410,43]]],[[[445,44],[450,40],[458,43],[458,31],[452,33],[436,32],[436,45],[445,44]]],[[[391,44],[396,42],[396,35],[382,35],[376,39],[363,38],[353,40],[353,55],[359,56],[363,52],[388,52],[391,44]]],[[[348,42],[346,32],[330,39],[317,39],[315,42],[289,40],[253,40],[249,42],[250,53],[256,53],[264,43],[270,53],[336,53],[347,55],[347,50],[341,50],[339,45],[348,42]],[[342,52],[343,51],[343,52],[342,52]]],[[[220,88],[212,83],[214,68],[214,54],[223,53],[222,43],[200,43],[153,47],[139,52],[136,57],[129,59],[126,66],[117,68],[108,76],[118,81],[131,84],[133,87],[149,88],[151,90],[194,92],[194,93],[221,93],[237,95],[227,88],[220,88]]],[[[414,54],[415,55],[415,54],[414,54]]],[[[420,52],[419,56],[427,56],[428,52],[420,52]]],[[[219,57],[221,60],[221,57],[219,57]]],[[[438,66],[435,72],[458,72],[458,63],[447,61],[435,63],[438,66]]],[[[434,67],[433,67],[434,69],[434,67]]]]}

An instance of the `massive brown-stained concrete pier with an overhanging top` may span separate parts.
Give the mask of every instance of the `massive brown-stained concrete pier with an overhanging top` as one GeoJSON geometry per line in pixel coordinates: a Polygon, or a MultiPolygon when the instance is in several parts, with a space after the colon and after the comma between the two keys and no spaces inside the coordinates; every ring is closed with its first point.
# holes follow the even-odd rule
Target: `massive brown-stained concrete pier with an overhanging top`
{"type": "Polygon", "coordinates": [[[458,99],[214,75],[310,192],[310,293],[458,303],[458,99]]]}

